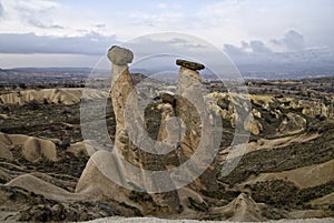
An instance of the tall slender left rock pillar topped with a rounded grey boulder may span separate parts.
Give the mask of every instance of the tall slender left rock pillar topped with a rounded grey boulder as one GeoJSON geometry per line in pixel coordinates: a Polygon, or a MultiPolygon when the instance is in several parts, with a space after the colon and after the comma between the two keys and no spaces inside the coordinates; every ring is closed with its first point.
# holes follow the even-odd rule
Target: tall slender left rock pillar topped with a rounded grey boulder
{"type": "MultiPolygon", "coordinates": [[[[130,139],[129,132],[127,130],[127,124],[129,122],[139,122],[139,125],[143,124],[145,126],[144,118],[140,116],[139,112],[137,112],[137,92],[136,89],[134,90],[135,85],[128,68],[128,63],[132,62],[134,54],[128,49],[115,45],[108,51],[108,58],[112,63],[110,97],[112,99],[112,107],[116,116],[116,149],[126,161],[143,170],[143,174],[140,178],[141,183],[144,181],[144,185],[147,185],[147,187],[154,187],[151,185],[155,185],[155,187],[159,189],[159,179],[146,178],[144,170],[164,171],[166,170],[164,162],[158,154],[145,152],[140,148],[137,148],[136,144],[134,144],[134,142],[149,143],[149,141],[145,139],[145,134],[143,134],[143,130],[140,128],[131,130],[132,132],[135,132],[135,134],[131,135],[131,138],[134,139],[130,139]],[[130,110],[128,111],[127,116],[126,109],[130,110]]],[[[155,145],[149,144],[146,146],[154,148],[155,145]]],[[[166,181],[168,181],[168,179],[166,181]]],[[[161,187],[163,186],[164,185],[161,185],[161,187]]],[[[156,204],[160,205],[165,210],[166,213],[179,211],[179,199],[176,191],[155,193],[151,194],[151,197],[156,204]]]]}

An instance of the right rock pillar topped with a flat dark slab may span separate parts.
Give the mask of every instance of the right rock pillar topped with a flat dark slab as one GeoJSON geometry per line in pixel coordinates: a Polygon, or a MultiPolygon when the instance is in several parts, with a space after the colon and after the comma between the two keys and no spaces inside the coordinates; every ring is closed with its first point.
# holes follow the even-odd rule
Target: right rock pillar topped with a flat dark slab
{"type": "MultiPolygon", "coordinates": [[[[209,121],[209,113],[206,109],[203,94],[203,85],[197,70],[205,67],[200,63],[177,60],[176,64],[181,65],[178,74],[176,89],[176,115],[185,123],[185,134],[180,142],[180,160],[185,162],[190,159],[199,146],[209,151],[215,146],[213,132],[214,126],[209,121]]],[[[209,160],[209,152],[207,154],[209,160]]],[[[202,176],[196,180],[195,190],[217,190],[216,176],[213,165],[209,166],[202,176]]]]}

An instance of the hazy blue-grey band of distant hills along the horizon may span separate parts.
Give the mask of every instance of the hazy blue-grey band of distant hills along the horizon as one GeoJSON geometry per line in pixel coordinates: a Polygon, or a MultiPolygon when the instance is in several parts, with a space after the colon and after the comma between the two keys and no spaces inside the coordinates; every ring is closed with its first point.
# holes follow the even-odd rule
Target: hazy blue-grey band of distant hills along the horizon
{"type": "MultiPolygon", "coordinates": [[[[301,80],[305,78],[324,78],[324,77],[332,77],[334,74],[334,69],[332,67],[325,67],[325,68],[308,68],[308,69],[302,69],[298,68],[296,70],[293,70],[292,68],[285,68],[285,67],[262,67],[259,69],[256,65],[252,64],[240,64],[237,65],[237,69],[239,70],[240,74],[245,80],[301,80]]],[[[106,69],[94,69],[94,68],[12,68],[12,69],[3,69],[0,68],[1,72],[27,72],[27,73],[46,73],[46,72],[52,72],[52,73],[80,73],[80,74],[89,74],[90,77],[99,77],[99,78],[106,78],[110,75],[110,70],[106,69]]],[[[176,80],[178,69],[175,68],[174,70],[164,70],[164,69],[141,69],[141,68],[131,68],[131,73],[141,73],[147,77],[155,77],[154,79],[158,80],[176,80]]],[[[210,70],[205,69],[200,72],[202,78],[206,80],[217,80],[217,79],[224,79],[227,78],[226,74],[224,74],[224,71],[222,73],[214,74],[210,70]],[[217,77],[218,75],[218,77],[217,77]]]]}

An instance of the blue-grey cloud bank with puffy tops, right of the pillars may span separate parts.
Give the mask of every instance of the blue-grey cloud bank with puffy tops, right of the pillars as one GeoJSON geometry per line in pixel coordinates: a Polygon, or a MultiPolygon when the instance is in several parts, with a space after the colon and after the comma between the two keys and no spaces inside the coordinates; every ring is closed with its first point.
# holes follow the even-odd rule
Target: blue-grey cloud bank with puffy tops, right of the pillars
{"type": "Polygon", "coordinates": [[[333,67],[334,55],[327,47],[305,48],[304,37],[291,30],[284,38],[273,39],[274,45],[283,50],[274,51],[259,40],[242,41],[240,47],[225,44],[224,51],[238,65],[253,65],[261,69],[299,69],[333,67]]]}

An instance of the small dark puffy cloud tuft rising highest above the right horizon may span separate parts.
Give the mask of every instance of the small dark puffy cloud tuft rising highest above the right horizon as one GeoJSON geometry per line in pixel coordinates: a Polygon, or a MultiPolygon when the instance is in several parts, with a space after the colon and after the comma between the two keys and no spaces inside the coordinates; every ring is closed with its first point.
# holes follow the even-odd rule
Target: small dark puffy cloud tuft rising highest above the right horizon
{"type": "Polygon", "coordinates": [[[272,43],[283,47],[288,51],[299,51],[305,49],[304,37],[295,30],[289,30],[282,39],[274,39],[272,43]]]}

